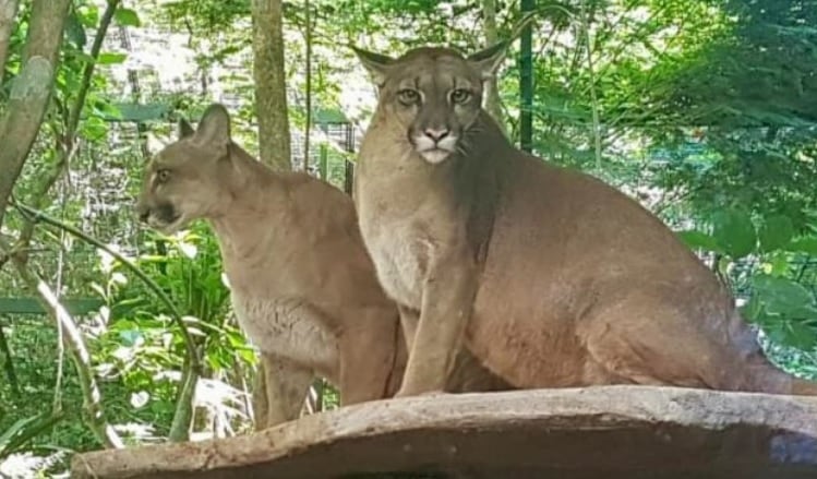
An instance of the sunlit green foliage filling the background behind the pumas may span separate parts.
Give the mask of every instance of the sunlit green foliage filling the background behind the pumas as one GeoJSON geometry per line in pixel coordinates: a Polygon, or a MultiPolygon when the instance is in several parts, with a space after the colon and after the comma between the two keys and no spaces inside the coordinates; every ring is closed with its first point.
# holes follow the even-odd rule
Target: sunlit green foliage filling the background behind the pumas
{"type": "MultiPolygon", "coordinates": [[[[255,357],[235,323],[218,247],[204,225],[167,238],[133,217],[145,136],[172,136],[172,121],[230,104],[235,135],[257,152],[249,0],[133,1],[115,14],[92,79],[67,175],[38,196],[60,166],[103,1],[76,0],[68,17],[56,92],[35,151],[15,185],[25,203],[76,226],[133,259],[173,299],[204,358],[194,432],[249,428],[245,397],[255,357]],[[130,34],[137,34],[129,37],[130,34]],[[184,45],[170,46],[183,37],[184,45]],[[130,38],[130,39],[129,39],[130,38]],[[127,47],[132,41],[135,46],[127,47]],[[190,53],[194,68],[145,67],[142,50],[190,53]],[[164,69],[164,70],[163,70],[164,69]],[[176,74],[176,73],[172,73],[176,74]],[[140,118],[121,105],[158,104],[140,118]],[[153,110],[151,110],[153,111],[153,110]],[[224,419],[226,418],[226,419],[224,419]],[[214,426],[220,424],[220,426],[214,426]]],[[[348,44],[399,55],[424,44],[483,45],[480,2],[311,0],[315,110],[341,110],[365,125],[373,92],[348,44]]],[[[497,2],[500,37],[519,20],[518,2],[497,2]]],[[[566,0],[538,2],[534,29],[534,149],[621,188],[661,216],[732,288],[781,366],[817,376],[817,9],[806,0],[566,0]],[[593,121],[593,112],[599,121],[593,121]],[[594,151],[596,142],[601,155],[594,151]]],[[[20,70],[31,2],[21,3],[0,105],[20,70]]],[[[286,74],[293,130],[304,110],[303,2],[285,3],[286,74]]],[[[512,47],[512,56],[518,47],[512,47]]],[[[516,137],[518,64],[500,77],[506,123],[516,137]]],[[[131,105],[132,107],[132,105],[131,105]]],[[[302,141],[293,135],[293,151],[302,141]]],[[[321,175],[343,183],[353,155],[313,133],[321,175]]],[[[314,143],[313,143],[314,144],[314,143]]],[[[0,231],[15,238],[10,211],[0,231]]],[[[110,423],[129,442],[163,440],[170,429],[184,349],[171,312],[122,264],[52,229],[35,230],[31,262],[65,297],[98,297],[80,318],[110,423]]],[[[21,296],[11,268],[0,290],[21,296]],[[7,292],[8,291],[8,292],[7,292]]],[[[98,447],[83,426],[76,376],[62,368],[58,334],[41,319],[0,318],[21,395],[0,381],[0,458],[19,452],[98,447]],[[44,405],[52,405],[46,411],[44,405]]],[[[0,351],[0,361],[5,359],[0,351]]],[[[336,403],[325,388],[324,406],[336,403]]],[[[220,431],[220,432],[219,432],[220,431]]],[[[60,468],[60,463],[52,465],[60,468]]],[[[62,463],[64,468],[64,462],[62,463]]],[[[50,472],[48,472],[50,474],[50,472]]]]}

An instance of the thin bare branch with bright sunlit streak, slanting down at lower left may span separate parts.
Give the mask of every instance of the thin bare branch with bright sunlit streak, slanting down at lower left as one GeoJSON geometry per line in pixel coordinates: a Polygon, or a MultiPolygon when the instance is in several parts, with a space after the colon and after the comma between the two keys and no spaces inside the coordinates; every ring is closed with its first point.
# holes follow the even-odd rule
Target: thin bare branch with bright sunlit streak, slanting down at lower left
{"type": "Polygon", "coordinates": [[[43,304],[43,308],[49,312],[55,322],[65,332],[63,339],[65,342],[65,347],[71,354],[71,359],[74,362],[76,375],[80,380],[80,388],[82,390],[83,396],[83,411],[85,412],[85,421],[88,428],[96,435],[97,440],[105,445],[105,447],[124,447],[124,443],[121,438],[119,438],[119,434],[105,419],[101,393],[99,392],[99,385],[96,383],[96,379],[94,378],[91,368],[91,354],[85,347],[82,333],[76,326],[73,318],[71,318],[65,308],[60,304],[57,295],[55,295],[51,288],[39,276],[33,273],[28,268],[28,265],[22,261],[17,254],[15,254],[14,250],[12,250],[12,248],[1,239],[0,250],[3,250],[5,254],[11,256],[11,261],[25,285],[28,289],[38,294],[38,299],[40,304],[43,304]]]}

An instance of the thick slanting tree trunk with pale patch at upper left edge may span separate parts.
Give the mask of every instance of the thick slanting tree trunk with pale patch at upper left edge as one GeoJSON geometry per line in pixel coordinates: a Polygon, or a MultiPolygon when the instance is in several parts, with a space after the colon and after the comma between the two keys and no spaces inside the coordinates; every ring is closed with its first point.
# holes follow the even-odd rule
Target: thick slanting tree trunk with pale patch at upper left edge
{"type": "Polygon", "coordinates": [[[14,183],[37,137],[53,88],[57,59],[70,0],[35,0],[23,51],[23,67],[14,79],[0,118],[0,226],[14,183]]]}

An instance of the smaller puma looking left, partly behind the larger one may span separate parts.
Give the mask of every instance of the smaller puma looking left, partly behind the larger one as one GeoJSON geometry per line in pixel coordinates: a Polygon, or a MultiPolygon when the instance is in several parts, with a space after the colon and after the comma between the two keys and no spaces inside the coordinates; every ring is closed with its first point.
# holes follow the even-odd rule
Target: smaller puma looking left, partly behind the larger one
{"type": "MultiPolygon", "coordinates": [[[[266,390],[260,428],[298,417],[326,378],[341,404],[392,396],[406,363],[397,308],[383,292],[340,190],[276,172],[236,144],[220,105],[147,165],[141,219],[165,233],[207,219],[218,239],[239,324],[259,347],[266,390]]],[[[510,388],[466,352],[452,388],[510,388]]]]}

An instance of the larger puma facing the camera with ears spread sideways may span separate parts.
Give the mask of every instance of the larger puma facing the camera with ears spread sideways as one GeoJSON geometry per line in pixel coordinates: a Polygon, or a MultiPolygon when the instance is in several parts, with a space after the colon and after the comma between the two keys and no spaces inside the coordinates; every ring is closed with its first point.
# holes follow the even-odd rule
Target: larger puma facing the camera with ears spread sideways
{"type": "Polygon", "coordinates": [[[419,311],[397,395],[441,392],[460,345],[518,388],[817,394],[772,366],[730,292],[656,216],[508,142],[481,107],[506,46],[355,49],[379,92],[357,168],[360,229],[386,294],[419,311]]]}

